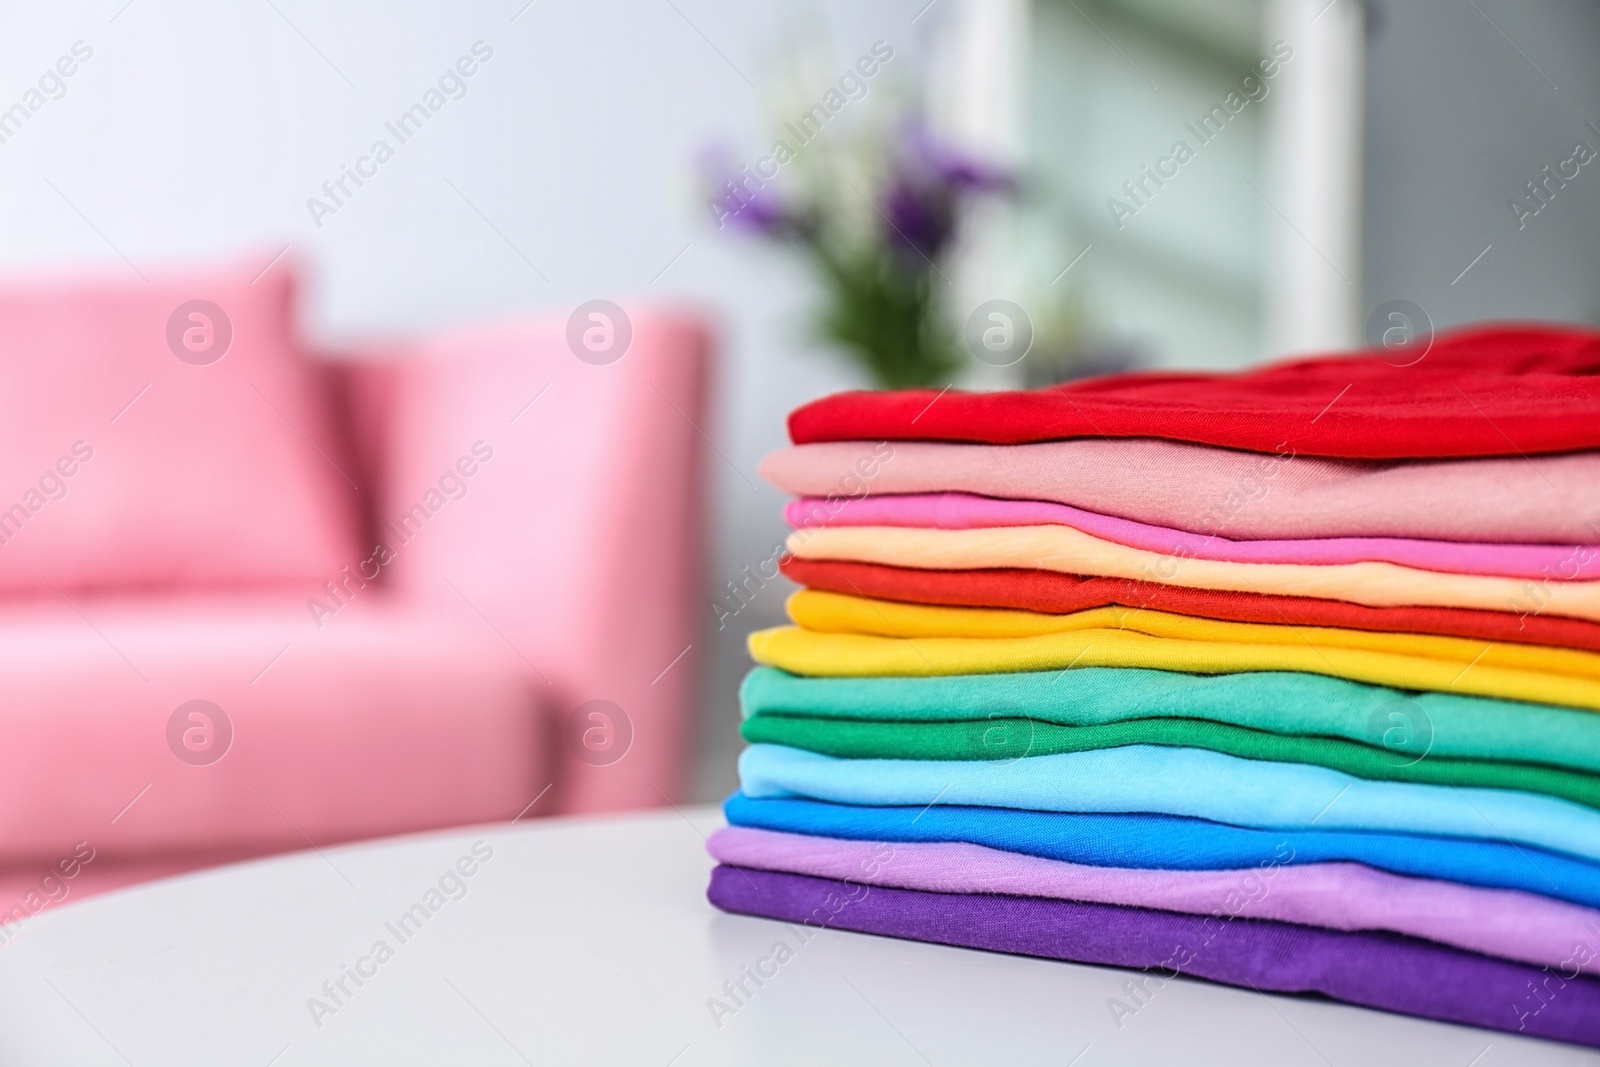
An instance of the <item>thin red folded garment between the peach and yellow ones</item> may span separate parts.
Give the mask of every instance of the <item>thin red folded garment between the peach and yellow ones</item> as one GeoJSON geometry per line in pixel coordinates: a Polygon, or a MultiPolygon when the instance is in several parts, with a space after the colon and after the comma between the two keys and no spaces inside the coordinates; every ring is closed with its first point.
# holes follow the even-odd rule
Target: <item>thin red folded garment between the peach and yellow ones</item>
{"type": "Polygon", "coordinates": [[[982,571],[922,571],[843,560],[779,561],[784,577],[835,593],[952,608],[1016,608],[1069,614],[1118,605],[1171,611],[1200,619],[1272,622],[1278,625],[1334,625],[1384,633],[1440,633],[1485,641],[1552,645],[1600,651],[1600,624],[1515,611],[1475,608],[1368,608],[1346,600],[1235,593],[1182,589],[1123,577],[1080,577],[1056,571],[995,568],[982,571]]]}

